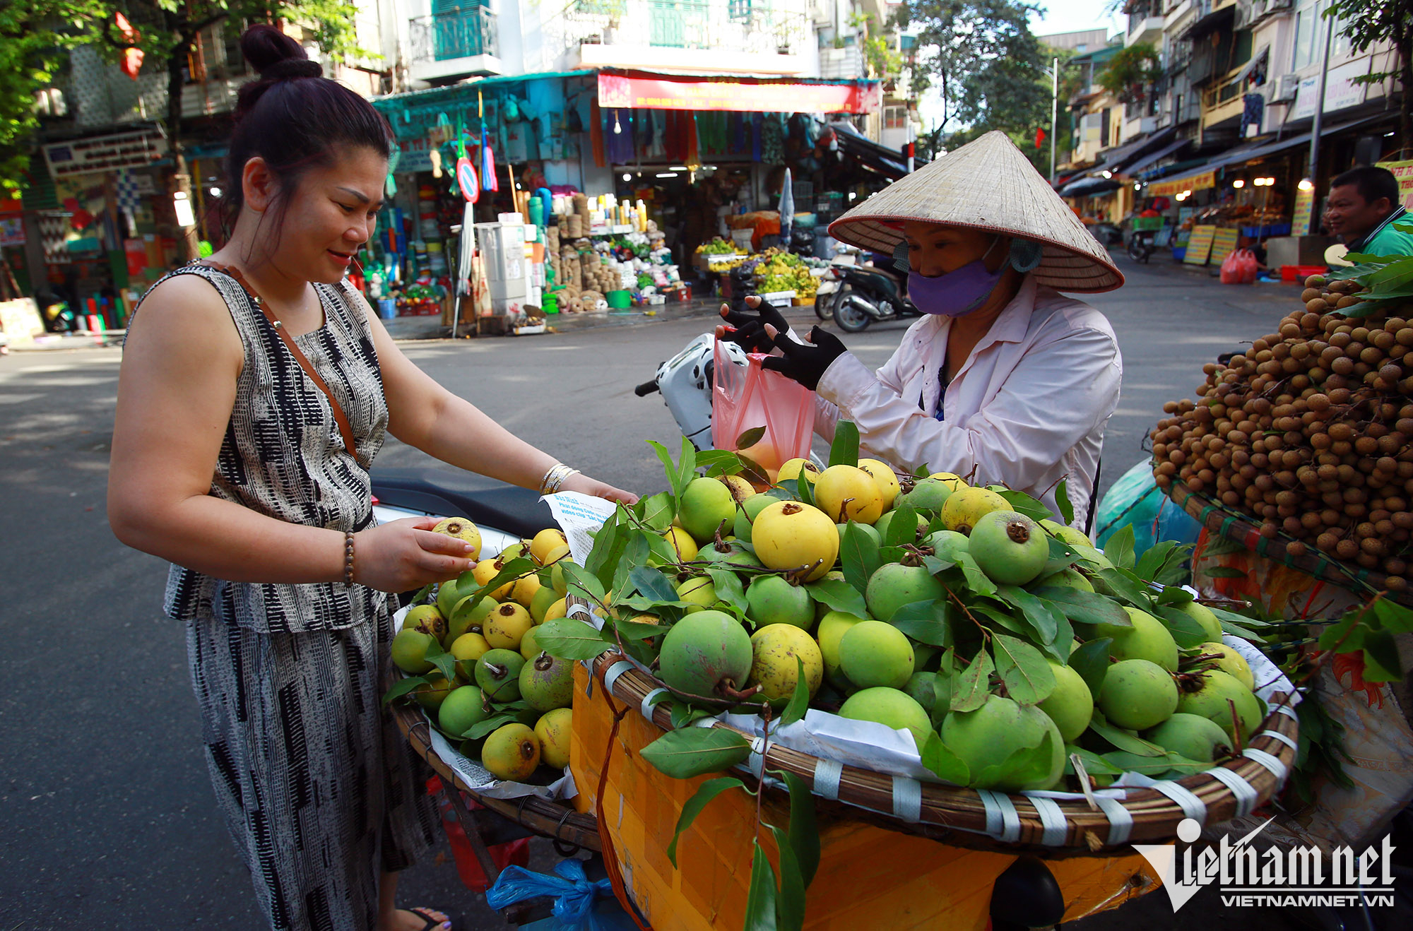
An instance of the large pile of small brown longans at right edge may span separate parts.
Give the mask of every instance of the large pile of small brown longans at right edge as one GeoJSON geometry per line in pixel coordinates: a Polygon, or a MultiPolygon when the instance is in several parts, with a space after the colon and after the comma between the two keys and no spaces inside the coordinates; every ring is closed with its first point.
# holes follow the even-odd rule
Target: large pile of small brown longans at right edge
{"type": "Polygon", "coordinates": [[[1347,318],[1354,281],[1306,280],[1304,308],[1224,366],[1198,400],[1169,401],[1150,434],[1159,487],[1174,480],[1293,537],[1407,582],[1413,537],[1413,321],[1347,318]]]}

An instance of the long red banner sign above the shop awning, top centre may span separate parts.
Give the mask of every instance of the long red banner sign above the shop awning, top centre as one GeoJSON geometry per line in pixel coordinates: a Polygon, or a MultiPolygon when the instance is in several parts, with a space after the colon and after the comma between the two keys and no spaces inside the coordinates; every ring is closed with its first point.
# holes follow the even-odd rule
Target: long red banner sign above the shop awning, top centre
{"type": "Polygon", "coordinates": [[[883,105],[877,82],[838,85],[677,81],[599,75],[601,107],[738,110],[745,113],[872,113],[883,105]]]}

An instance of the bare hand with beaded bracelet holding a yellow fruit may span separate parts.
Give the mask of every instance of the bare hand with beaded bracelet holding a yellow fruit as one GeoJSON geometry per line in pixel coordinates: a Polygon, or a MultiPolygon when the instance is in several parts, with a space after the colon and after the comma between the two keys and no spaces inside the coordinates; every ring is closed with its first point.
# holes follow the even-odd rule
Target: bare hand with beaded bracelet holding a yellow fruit
{"type": "Polygon", "coordinates": [[[435,517],[404,517],[353,534],[353,581],[380,592],[406,592],[472,568],[471,544],[432,533],[435,526],[435,517]]]}

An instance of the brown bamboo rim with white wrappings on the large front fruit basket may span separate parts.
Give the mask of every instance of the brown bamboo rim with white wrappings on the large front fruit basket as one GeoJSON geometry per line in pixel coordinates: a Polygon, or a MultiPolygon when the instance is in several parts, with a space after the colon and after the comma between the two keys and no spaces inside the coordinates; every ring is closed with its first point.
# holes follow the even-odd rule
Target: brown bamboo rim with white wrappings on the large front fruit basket
{"type": "MultiPolygon", "coordinates": [[[[666,705],[647,706],[663,684],[625,660],[606,653],[593,661],[595,678],[615,699],[639,709],[656,728],[671,729],[666,705]]],[[[835,760],[764,746],[755,735],[755,771],[783,770],[804,778],[815,795],[853,807],[853,814],[892,831],[916,834],[951,846],[1005,853],[1036,853],[1048,859],[1123,853],[1132,843],[1161,843],[1177,825],[1193,818],[1201,825],[1243,817],[1265,804],[1284,784],[1296,759],[1297,716],[1283,705],[1284,692],[1272,695],[1272,713],[1256,730],[1243,754],[1219,767],[1160,781],[1153,788],[1129,788],[1125,800],[1057,800],[957,788],[886,776],[835,760]]],[[[716,722],[712,726],[735,730],[716,722]]]]}

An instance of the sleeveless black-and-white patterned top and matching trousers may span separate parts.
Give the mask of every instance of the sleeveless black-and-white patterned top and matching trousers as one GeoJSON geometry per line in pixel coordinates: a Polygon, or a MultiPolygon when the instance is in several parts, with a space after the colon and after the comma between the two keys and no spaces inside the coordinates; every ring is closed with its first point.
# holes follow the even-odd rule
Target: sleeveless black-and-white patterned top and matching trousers
{"type": "MultiPolygon", "coordinates": [[[[315,284],[325,324],[295,342],[353,428],[349,455],[324,393],[229,275],[244,366],[211,494],[331,530],[373,523],[367,469],[387,403],[366,312],[348,284],[315,284]]],[[[165,612],[187,622],[192,687],[216,800],[274,928],[373,930],[382,870],[437,838],[430,774],[383,713],[394,599],[341,582],[226,582],[178,565],[165,612]]]]}

